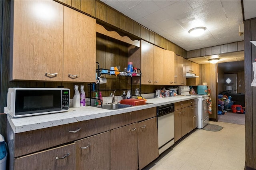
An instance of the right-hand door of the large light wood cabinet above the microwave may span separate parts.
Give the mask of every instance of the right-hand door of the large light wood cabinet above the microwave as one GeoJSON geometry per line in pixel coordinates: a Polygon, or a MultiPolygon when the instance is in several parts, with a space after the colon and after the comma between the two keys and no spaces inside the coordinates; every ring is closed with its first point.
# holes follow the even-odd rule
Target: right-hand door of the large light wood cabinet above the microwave
{"type": "Polygon", "coordinates": [[[94,82],[96,20],[64,6],[63,80],[94,82]]]}

